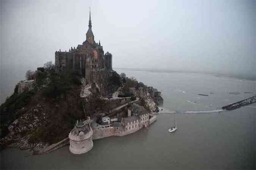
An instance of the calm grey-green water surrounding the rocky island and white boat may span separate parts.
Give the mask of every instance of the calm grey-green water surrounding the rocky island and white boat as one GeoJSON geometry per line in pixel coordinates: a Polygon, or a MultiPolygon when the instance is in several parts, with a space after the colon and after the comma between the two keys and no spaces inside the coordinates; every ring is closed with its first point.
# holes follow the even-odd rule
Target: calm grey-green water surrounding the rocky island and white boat
{"type": "MultiPolygon", "coordinates": [[[[163,90],[164,107],[171,110],[213,110],[252,95],[244,92],[256,94],[255,81],[202,74],[116,71],[163,90]]],[[[175,133],[167,132],[174,123],[174,115],[161,114],[149,129],[94,140],[93,149],[82,155],[71,154],[68,146],[41,156],[28,156],[28,151],[19,149],[3,150],[1,169],[256,168],[256,108],[177,114],[176,119],[175,133]]]]}

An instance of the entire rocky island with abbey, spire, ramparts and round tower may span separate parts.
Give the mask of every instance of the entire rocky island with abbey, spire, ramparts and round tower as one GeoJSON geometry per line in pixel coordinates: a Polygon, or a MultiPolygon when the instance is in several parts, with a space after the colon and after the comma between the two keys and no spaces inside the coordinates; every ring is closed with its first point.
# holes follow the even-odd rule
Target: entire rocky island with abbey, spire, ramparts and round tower
{"type": "Polygon", "coordinates": [[[1,148],[46,154],[64,145],[74,154],[93,140],[124,136],[157,120],[161,92],[112,69],[112,54],[94,41],[91,13],[85,41],[55,51],[49,61],[26,72],[1,104],[1,148]]]}

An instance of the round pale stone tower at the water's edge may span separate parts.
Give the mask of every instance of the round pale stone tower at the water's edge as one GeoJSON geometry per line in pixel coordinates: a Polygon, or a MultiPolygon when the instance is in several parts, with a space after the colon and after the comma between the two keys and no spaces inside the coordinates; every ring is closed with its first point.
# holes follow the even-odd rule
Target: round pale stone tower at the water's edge
{"type": "Polygon", "coordinates": [[[93,129],[90,117],[85,121],[77,121],[74,129],[69,133],[69,150],[74,154],[86,153],[93,148],[93,129]]]}

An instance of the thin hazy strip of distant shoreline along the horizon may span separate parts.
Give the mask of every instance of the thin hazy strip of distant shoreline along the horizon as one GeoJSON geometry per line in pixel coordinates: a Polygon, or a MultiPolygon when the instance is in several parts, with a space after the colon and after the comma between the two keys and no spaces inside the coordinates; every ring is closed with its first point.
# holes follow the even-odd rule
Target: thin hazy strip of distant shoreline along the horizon
{"type": "Polygon", "coordinates": [[[256,76],[227,75],[227,74],[221,74],[221,73],[205,73],[205,72],[193,72],[193,71],[182,71],[182,70],[132,69],[132,68],[117,68],[117,67],[115,67],[114,69],[123,69],[123,70],[140,71],[140,72],[153,72],[153,73],[195,73],[195,74],[212,75],[217,77],[229,77],[229,78],[237,78],[240,80],[256,81],[256,76]]]}

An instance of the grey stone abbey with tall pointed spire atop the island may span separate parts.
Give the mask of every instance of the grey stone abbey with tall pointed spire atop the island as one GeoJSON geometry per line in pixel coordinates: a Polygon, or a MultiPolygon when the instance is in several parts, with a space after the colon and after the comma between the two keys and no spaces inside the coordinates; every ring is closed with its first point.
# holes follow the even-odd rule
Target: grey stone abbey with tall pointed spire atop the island
{"type": "Polygon", "coordinates": [[[69,70],[77,71],[85,76],[86,84],[91,83],[93,79],[93,72],[100,70],[108,70],[112,72],[112,54],[107,52],[104,55],[101,42],[94,41],[93,31],[91,29],[91,11],[89,17],[88,31],[86,33],[86,40],[83,44],[69,49],[69,51],[55,52],[55,68],[58,71],[69,70]]]}

